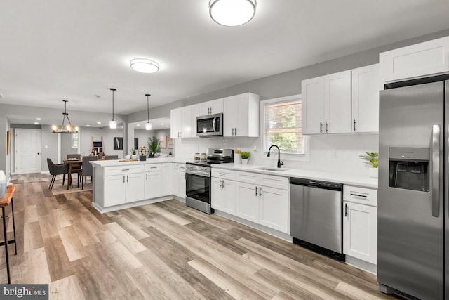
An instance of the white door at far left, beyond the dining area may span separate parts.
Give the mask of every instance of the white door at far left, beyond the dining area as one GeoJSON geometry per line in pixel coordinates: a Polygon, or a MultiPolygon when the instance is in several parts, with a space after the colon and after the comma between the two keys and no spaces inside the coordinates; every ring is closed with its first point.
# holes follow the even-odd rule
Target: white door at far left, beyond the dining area
{"type": "Polygon", "coordinates": [[[14,149],[15,174],[41,172],[41,129],[15,129],[14,149]]]}

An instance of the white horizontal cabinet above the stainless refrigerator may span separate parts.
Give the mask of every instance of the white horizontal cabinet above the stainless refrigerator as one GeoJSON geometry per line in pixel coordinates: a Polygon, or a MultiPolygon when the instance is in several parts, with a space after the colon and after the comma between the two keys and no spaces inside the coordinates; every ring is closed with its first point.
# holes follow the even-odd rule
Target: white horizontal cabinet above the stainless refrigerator
{"type": "Polygon", "coordinates": [[[449,37],[382,52],[379,61],[385,83],[449,72],[449,37]]]}

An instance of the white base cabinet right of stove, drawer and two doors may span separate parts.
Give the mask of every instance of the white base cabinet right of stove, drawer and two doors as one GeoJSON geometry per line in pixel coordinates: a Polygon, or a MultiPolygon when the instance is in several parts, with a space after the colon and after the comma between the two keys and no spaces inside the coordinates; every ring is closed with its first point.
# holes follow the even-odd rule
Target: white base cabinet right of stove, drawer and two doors
{"type": "Polygon", "coordinates": [[[236,214],[236,171],[212,170],[211,206],[227,214],[236,214]]]}

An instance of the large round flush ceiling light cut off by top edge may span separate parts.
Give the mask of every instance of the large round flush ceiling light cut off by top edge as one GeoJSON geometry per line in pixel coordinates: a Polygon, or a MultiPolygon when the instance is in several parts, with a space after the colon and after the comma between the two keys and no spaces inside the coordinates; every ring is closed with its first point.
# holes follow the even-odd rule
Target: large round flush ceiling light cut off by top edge
{"type": "Polygon", "coordinates": [[[210,0],[210,18],[220,25],[239,26],[255,15],[256,0],[210,0]]]}

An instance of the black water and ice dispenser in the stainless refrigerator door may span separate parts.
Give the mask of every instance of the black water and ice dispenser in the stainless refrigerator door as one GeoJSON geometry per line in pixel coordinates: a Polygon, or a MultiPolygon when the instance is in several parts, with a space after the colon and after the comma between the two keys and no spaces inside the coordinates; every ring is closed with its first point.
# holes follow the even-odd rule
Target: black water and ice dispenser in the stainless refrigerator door
{"type": "Polygon", "coordinates": [[[389,187],[429,192],[429,148],[389,148],[389,187]]]}

